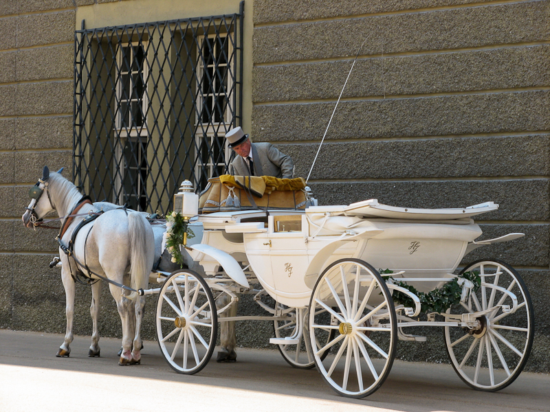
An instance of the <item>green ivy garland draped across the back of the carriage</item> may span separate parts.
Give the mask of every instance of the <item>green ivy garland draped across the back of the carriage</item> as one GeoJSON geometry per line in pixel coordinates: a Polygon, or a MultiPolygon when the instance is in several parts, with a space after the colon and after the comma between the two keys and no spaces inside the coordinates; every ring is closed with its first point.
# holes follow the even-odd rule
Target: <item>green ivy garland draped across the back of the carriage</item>
{"type": "MultiPolygon", "coordinates": [[[[389,269],[386,269],[385,271],[382,271],[382,269],[380,270],[381,275],[388,273],[393,273],[393,271],[390,271],[389,269]]],[[[452,279],[452,281],[447,282],[442,288],[434,289],[428,293],[419,292],[414,287],[409,286],[404,282],[399,282],[398,279],[393,279],[391,276],[388,278],[393,279],[395,285],[401,286],[401,288],[406,288],[411,293],[417,295],[420,299],[422,312],[442,313],[452,305],[460,303],[462,286],[459,285],[459,277],[463,277],[464,279],[472,282],[474,284],[474,292],[481,286],[481,277],[478,272],[464,272],[452,279]]],[[[399,292],[399,290],[394,290],[392,297],[396,304],[404,305],[406,308],[415,307],[415,301],[405,293],[399,292]]]]}

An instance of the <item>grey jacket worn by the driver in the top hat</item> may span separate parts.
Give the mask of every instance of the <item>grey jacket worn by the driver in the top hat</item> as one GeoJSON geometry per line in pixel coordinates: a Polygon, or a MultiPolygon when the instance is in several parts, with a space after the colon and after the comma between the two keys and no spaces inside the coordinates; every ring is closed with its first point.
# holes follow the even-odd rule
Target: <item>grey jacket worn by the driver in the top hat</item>
{"type": "MultiPolygon", "coordinates": [[[[251,150],[254,176],[292,179],[294,162],[290,156],[281,153],[270,143],[253,143],[251,150]]],[[[235,157],[229,165],[229,172],[233,176],[248,176],[248,165],[245,159],[241,156],[235,157]]]]}

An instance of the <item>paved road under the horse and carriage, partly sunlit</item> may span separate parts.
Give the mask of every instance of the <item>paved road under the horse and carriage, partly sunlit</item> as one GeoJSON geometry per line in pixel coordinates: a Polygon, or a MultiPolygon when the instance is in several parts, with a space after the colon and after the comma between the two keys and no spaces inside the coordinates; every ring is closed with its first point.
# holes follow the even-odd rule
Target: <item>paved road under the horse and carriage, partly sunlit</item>
{"type": "Polygon", "coordinates": [[[396,361],[376,393],[342,398],[315,369],[289,367],[272,350],[239,350],[239,361],[211,361],[199,374],[176,374],[157,343],[144,343],[142,365],[120,367],[118,339],[101,339],[88,358],[77,336],[70,358],[54,354],[63,336],[0,330],[0,412],[43,411],[550,411],[550,376],[523,373],[496,393],[474,391],[450,365],[396,361]],[[177,409],[175,409],[177,408],[177,409]]]}

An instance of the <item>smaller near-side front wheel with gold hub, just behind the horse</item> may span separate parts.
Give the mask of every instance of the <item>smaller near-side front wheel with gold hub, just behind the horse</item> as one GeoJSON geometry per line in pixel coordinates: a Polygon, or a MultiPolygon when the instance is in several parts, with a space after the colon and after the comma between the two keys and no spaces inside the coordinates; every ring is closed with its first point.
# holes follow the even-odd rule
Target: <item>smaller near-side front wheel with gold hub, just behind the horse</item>
{"type": "Polygon", "coordinates": [[[196,374],[210,361],[218,334],[216,304],[197,273],[175,271],[157,300],[157,339],[168,365],[180,374],[196,374]]]}

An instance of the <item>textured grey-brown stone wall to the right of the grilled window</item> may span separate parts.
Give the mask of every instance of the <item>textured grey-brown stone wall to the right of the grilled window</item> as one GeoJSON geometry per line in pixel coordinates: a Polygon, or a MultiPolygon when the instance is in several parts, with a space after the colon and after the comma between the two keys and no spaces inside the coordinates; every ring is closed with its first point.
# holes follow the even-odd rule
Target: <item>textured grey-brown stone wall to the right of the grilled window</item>
{"type": "MultiPolygon", "coordinates": [[[[322,204],[494,201],[477,249],[519,269],[536,312],[528,369],[550,370],[550,5],[540,1],[254,1],[252,130],[307,176],[322,204]]],[[[441,331],[399,356],[446,361],[441,331]]]]}

